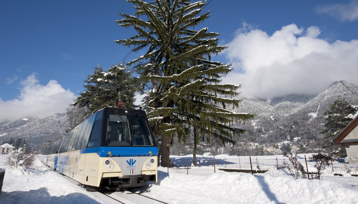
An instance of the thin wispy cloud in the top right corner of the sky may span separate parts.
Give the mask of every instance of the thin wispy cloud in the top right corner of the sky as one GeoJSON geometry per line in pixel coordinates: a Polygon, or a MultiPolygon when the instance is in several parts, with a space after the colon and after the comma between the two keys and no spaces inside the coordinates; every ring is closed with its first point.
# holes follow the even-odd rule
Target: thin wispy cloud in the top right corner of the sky
{"type": "Polygon", "coordinates": [[[330,4],[316,7],[319,14],[328,14],[341,21],[358,20],[358,1],[352,0],[349,4],[330,4]]]}

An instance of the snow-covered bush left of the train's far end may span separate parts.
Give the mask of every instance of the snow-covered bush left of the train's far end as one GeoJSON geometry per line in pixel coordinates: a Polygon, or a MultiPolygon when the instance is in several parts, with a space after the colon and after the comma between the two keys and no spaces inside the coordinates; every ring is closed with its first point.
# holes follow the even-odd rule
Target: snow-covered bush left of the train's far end
{"type": "Polygon", "coordinates": [[[25,152],[26,147],[22,148],[20,147],[17,150],[11,151],[8,155],[7,163],[10,166],[14,167],[29,167],[32,165],[35,159],[35,155],[31,153],[25,152]]]}

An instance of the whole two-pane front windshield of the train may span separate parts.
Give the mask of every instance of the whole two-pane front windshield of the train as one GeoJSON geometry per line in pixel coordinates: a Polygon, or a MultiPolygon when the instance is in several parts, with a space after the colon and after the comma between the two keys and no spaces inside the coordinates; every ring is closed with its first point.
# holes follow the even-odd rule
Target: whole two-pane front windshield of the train
{"type": "Polygon", "coordinates": [[[144,116],[108,115],[108,146],[154,146],[144,116]]]}

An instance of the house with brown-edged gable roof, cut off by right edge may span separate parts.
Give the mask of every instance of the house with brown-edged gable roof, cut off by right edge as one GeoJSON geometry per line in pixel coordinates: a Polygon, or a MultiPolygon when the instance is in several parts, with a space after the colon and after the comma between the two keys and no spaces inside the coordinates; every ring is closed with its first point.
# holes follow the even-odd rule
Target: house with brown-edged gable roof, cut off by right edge
{"type": "MultiPolygon", "coordinates": [[[[357,115],[357,114],[356,114],[357,115]]],[[[345,145],[347,157],[358,157],[358,117],[356,116],[333,140],[337,145],[345,145]]]]}

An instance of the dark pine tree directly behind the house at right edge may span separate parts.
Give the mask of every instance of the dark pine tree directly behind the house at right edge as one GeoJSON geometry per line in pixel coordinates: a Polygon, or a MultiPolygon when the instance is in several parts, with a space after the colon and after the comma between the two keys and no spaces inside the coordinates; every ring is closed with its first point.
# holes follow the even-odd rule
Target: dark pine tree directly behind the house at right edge
{"type": "Polygon", "coordinates": [[[324,112],[328,121],[321,132],[326,134],[323,138],[323,148],[329,152],[336,152],[338,157],[347,156],[345,148],[339,147],[333,142],[333,139],[344,130],[345,127],[353,120],[353,115],[358,111],[358,107],[344,98],[338,98],[333,104],[329,105],[330,110],[324,112]]]}

